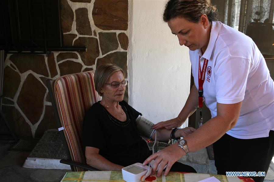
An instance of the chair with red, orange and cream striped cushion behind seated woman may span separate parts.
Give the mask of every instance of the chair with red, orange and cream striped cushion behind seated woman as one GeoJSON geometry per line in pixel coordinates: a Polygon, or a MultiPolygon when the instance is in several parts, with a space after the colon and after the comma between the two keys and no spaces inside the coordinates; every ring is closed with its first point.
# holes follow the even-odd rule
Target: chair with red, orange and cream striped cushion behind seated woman
{"type": "MultiPolygon", "coordinates": [[[[64,127],[64,136],[71,160],[85,165],[87,164],[82,144],[83,119],[86,111],[93,103],[101,100],[101,96],[95,90],[93,76],[94,71],[61,76],[54,81],[53,86],[53,96],[57,110],[54,114],[58,115],[61,123],[59,126],[64,127]]],[[[64,160],[60,162],[66,163],[64,160]]],[[[74,165],[73,163],[67,164],[70,164],[71,167],[74,165]]],[[[76,166],[72,167],[73,171],[85,169],[81,165],[76,166]]]]}

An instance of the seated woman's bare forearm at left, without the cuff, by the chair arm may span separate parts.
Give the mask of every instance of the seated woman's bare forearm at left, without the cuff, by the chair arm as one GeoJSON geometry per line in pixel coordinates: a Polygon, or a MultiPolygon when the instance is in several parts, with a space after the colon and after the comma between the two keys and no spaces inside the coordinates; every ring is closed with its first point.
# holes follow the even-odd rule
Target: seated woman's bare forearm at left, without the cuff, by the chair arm
{"type": "Polygon", "coordinates": [[[99,170],[122,170],[124,166],[120,166],[118,164],[114,164],[101,156],[100,154],[93,154],[86,159],[86,163],[92,167],[95,167],[99,170]]]}

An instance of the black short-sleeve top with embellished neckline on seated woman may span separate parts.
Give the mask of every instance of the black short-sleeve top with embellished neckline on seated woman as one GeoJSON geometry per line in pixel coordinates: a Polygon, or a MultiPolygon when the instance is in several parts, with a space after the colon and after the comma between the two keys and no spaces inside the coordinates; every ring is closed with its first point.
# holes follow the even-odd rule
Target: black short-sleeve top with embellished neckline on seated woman
{"type": "Polygon", "coordinates": [[[98,148],[100,155],[121,166],[142,163],[150,155],[135,122],[142,114],[125,101],[119,104],[127,116],[124,122],[114,118],[100,101],[90,107],[83,121],[83,146],[98,148]]]}

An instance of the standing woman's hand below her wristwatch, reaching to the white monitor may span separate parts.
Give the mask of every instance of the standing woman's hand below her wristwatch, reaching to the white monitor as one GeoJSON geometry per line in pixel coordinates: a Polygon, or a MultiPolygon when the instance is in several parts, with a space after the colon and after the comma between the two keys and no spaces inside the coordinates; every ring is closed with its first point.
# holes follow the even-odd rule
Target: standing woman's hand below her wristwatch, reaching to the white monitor
{"type": "Polygon", "coordinates": [[[172,167],[172,165],[178,159],[180,159],[183,156],[183,154],[184,154],[184,150],[181,149],[181,147],[179,147],[177,145],[177,143],[175,143],[175,144],[170,145],[170,146],[164,148],[163,150],[156,152],[156,153],[152,154],[151,156],[149,156],[143,162],[143,165],[148,164],[150,161],[152,161],[154,159],[155,165],[153,165],[152,174],[155,174],[158,164],[160,164],[159,169],[157,171],[157,177],[159,177],[162,174],[163,168],[167,164],[167,168],[164,173],[164,175],[166,176],[168,174],[170,168],[172,167]]]}

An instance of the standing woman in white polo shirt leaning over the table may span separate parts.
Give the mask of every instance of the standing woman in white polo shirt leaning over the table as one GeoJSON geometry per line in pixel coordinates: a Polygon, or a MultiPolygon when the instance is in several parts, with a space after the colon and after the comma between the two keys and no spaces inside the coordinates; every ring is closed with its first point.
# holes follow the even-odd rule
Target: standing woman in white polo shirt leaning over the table
{"type": "Polygon", "coordinates": [[[212,119],[144,164],[156,159],[158,176],[168,164],[166,175],[180,157],[213,143],[218,174],[267,172],[274,154],[274,83],[255,43],[216,21],[210,0],[170,0],[163,19],[180,45],[190,49],[195,85],[178,117],[153,128],[179,127],[202,104],[210,109],[212,119]]]}

